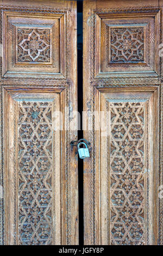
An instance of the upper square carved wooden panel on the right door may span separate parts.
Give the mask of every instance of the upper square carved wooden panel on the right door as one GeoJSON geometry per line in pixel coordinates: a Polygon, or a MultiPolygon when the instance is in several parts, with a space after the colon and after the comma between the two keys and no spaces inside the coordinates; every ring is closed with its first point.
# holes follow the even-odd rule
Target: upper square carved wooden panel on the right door
{"type": "Polygon", "coordinates": [[[95,55],[95,77],[153,76],[158,77],[160,11],[148,13],[109,14],[95,11],[91,36],[95,55]],[[95,31],[95,32],[93,32],[95,31]],[[95,42],[95,43],[94,43],[95,42]]]}

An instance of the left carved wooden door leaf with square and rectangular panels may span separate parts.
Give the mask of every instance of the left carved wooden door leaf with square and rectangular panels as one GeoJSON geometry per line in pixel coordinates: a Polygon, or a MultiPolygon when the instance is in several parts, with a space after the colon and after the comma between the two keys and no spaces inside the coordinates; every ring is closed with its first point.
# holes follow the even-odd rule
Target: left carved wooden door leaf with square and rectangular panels
{"type": "Polygon", "coordinates": [[[1,1],[1,244],[78,244],[76,12],[1,1]]]}

